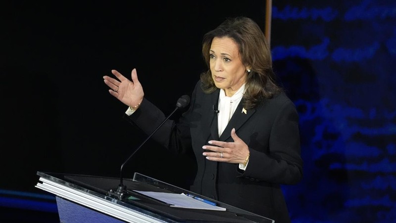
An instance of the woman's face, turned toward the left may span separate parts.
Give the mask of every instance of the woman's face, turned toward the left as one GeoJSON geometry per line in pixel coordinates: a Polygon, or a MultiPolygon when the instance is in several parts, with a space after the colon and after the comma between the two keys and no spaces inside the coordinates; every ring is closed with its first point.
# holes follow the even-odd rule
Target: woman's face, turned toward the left
{"type": "Polygon", "coordinates": [[[213,38],[209,50],[210,71],[214,84],[232,96],[246,82],[246,66],[242,64],[238,45],[228,37],[213,38]]]}

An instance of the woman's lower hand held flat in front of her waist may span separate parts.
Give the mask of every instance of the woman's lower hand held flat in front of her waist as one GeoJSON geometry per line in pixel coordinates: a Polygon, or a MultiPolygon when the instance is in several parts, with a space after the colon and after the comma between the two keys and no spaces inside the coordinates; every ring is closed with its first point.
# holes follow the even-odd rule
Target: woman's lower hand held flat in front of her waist
{"type": "Polygon", "coordinates": [[[231,130],[231,137],[234,142],[223,142],[210,140],[210,145],[202,146],[205,150],[202,155],[206,159],[218,162],[227,163],[245,163],[246,157],[249,154],[249,147],[247,144],[235,133],[235,129],[231,130]]]}

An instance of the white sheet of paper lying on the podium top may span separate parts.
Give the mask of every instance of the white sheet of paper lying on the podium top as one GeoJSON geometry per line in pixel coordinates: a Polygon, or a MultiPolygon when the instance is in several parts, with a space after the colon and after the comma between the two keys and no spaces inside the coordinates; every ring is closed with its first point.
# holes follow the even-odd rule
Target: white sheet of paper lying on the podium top
{"type": "Polygon", "coordinates": [[[215,210],[215,211],[225,211],[225,208],[207,204],[205,202],[196,200],[188,195],[181,193],[164,193],[164,192],[153,192],[153,191],[141,191],[134,190],[138,193],[144,194],[148,197],[160,200],[169,204],[171,207],[175,208],[192,208],[192,209],[204,209],[204,210],[215,210]]]}

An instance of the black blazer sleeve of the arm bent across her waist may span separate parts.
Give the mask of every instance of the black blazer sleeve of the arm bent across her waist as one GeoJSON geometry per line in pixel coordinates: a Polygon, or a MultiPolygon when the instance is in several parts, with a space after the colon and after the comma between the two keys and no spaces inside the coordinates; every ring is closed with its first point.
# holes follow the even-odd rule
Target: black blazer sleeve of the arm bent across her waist
{"type": "Polygon", "coordinates": [[[298,114],[287,100],[277,113],[269,136],[269,152],[250,149],[243,177],[269,183],[296,184],[302,178],[298,114]]]}

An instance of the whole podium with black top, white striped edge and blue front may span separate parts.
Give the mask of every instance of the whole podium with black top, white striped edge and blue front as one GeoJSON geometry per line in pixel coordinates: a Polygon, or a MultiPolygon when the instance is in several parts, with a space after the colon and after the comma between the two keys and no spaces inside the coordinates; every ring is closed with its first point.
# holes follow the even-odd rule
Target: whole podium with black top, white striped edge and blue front
{"type": "Polygon", "coordinates": [[[123,179],[128,196],[120,200],[108,195],[119,178],[37,172],[37,188],[56,197],[60,222],[95,223],[274,223],[243,209],[204,197],[169,183],[135,173],[123,179]],[[226,211],[175,208],[136,191],[185,193],[216,203],[226,211]]]}

